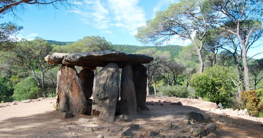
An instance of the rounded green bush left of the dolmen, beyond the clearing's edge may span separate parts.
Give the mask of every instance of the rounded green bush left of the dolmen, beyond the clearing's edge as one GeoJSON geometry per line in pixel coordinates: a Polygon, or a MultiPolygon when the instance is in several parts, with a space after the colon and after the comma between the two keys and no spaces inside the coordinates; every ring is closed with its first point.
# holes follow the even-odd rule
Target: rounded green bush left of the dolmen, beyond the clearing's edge
{"type": "Polygon", "coordinates": [[[26,100],[26,99],[37,99],[42,95],[41,89],[38,87],[34,77],[27,77],[14,87],[14,99],[16,101],[26,100]]]}

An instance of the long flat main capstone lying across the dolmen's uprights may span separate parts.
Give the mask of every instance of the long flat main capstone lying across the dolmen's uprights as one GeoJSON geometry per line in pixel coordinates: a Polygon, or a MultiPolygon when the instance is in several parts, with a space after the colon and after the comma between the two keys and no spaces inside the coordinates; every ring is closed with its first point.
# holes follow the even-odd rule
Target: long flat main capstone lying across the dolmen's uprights
{"type": "Polygon", "coordinates": [[[133,66],[137,64],[150,63],[152,60],[152,57],[146,55],[106,50],[66,55],[64,56],[63,64],[66,66],[104,67],[109,63],[116,63],[118,64],[119,68],[123,68],[126,66],[127,62],[133,66]]]}

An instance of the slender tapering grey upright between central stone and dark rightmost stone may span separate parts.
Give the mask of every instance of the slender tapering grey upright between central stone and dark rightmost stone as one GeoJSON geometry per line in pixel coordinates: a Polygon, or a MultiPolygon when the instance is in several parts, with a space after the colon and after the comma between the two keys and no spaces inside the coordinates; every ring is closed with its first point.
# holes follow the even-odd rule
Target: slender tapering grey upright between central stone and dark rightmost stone
{"type": "Polygon", "coordinates": [[[132,69],[130,65],[122,68],[121,72],[121,114],[136,114],[136,93],[132,82],[132,69]]]}

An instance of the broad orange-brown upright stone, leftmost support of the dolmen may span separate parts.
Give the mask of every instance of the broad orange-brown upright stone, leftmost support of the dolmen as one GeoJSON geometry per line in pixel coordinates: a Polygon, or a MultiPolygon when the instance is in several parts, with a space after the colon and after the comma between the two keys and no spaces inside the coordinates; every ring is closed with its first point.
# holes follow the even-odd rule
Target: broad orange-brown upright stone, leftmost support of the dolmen
{"type": "Polygon", "coordinates": [[[84,114],[87,102],[83,85],[74,67],[61,65],[57,82],[57,109],[75,114],[84,114]]]}

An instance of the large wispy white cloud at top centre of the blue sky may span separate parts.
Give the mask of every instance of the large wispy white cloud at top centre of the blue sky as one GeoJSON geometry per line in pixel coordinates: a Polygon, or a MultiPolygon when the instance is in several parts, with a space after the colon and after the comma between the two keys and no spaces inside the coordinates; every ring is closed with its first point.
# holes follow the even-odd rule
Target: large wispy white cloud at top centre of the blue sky
{"type": "Polygon", "coordinates": [[[123,32],[137,34],[137,28],[145,25],[146,18],[138,0],[86,0],[81,9],[74,10],[80,21],[92,25],[106,34],[108,29],[118,27],[123,32]]]}

